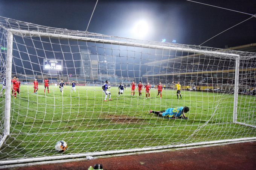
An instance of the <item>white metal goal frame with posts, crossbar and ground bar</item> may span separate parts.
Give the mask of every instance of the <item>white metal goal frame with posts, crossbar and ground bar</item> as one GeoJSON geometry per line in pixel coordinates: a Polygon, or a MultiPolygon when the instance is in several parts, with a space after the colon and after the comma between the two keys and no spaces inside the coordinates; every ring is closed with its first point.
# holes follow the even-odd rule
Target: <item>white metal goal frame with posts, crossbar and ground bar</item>
{"type": "MultiPolygon", "coordinates": [[[[37,31],[27,31],[27,30],[16,30],[16,29],[6,29],[8,32],[7,38],[7,56],[6,56],[6,102],[5,102],[5,115],[4,115],[4,135],[0,141],[0,147],[5,141],[6,137],[10,134],[10,111],[11,111],[11,72],[12,72],[12,44],[13,44],[13,35],[33,35],[33,36],[41,36],[44,38],[55,38],[55,39],[67,39],[67,40],[75,40],[75,41],[86,41],[86,42],[94,42],[94,43],[102,43],[102,44],[111,44],[111,45],[122,45],[122,46],[130,46],[130,47],[142,47],[142,48],[154,48],[154,49],[165,49],[165,50],[175,50],[175,51],[183,51],[187,53],[201,53],[201,54],[216,54],[223,56],[232,56],[235,57],[235,89],[234,89],[234,104],[233,104],[233,123],[238,123],[245,126],[250,126],[256,128],[256,126],[249,125],[246,123],[241,123],[237,121],[237,110],[238,110],[238,84],[239,84],[239,63],[240,63],[240,55],[233,53],[224,53],[221,51],[206,51],[206,50],[198,50],[195,48],[178,48],[178,47],[170,47],[166,45],[152,45],[152,44],[142,44],[142,43],[134,43],[128,41],[116,41],[110,39],[98,39],[87,37],[86,33],[84,35],[73,36],[73,35],[62,35],[57,33],[50,32],[37,32],[37,31]]],[[[129,150],[116,150],[116,151],[108,151],[108,152],[96,152],[96,153],[82,153],[82,154],[74,154],[74,155],[63,155],[63,156],[49,156],[49,157],[39,157],[39,158],[23,158],[18,160],[10,160],[10,161],[0,161],[0,165],[4,164],[15,164],[15,163],[23,163],[23,162],[35,162],[35,161],[46,161],[53,159],[65,159],[65,158],[78,158],[84,156],[99,156],[99,155],[107,155],[107,154],[115,154],[115,153],[125,153],[125,152],[139,152],[139,151],[147,151],[147,150],[157,150],[157,149],[168,149],[174,147],[187,147],[187,146],[196,146],[196,145],[204,145],[204,144],[214,144],[214,143],[224,143],[224,142],[232,142],[232,141],[244,141],[244,140],[256,140],[256,137],[247,137],[247,138],[236,138],[230,140],[218,140],[218,141],[207,141],[207,142],[198,142],[191,144],[180,144],[180,145],[167,145],[167,146],[157,146],[157,147],[146,147],[140,149],[129,149],[129,150]]]]}

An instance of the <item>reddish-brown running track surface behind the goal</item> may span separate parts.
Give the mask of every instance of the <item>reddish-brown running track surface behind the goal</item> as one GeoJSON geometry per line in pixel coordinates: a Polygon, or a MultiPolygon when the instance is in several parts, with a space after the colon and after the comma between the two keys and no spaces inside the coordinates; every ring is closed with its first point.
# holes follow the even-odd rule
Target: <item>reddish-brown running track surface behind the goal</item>
{"type": "MultiPolygon", "coordinates": [[[[75,160],[75,159],[74,159],[75,160]]],[[[256,169],[256,141],[165,152],[113,156],[91,160],[32,165],[15,170],[87,170],[102,164],[104,170],[256,169]]]]}

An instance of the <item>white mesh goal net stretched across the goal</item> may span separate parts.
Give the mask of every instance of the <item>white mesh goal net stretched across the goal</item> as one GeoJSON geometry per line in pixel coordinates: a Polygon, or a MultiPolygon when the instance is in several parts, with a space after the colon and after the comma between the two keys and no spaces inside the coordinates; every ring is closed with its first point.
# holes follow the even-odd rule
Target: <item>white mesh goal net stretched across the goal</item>
{"type": "Polygon", "coordinates": [[[3,17],[0,35],[0,80],[6,78],[0,97],[0,164],[256,138],[256,53],[3,17]],[[21,85],[20,93],[12,95],[14,75],[21,85]],[[106,80],[111,86],[107,98],[102,90],[106,80]],[[125,88],[119,94],[120,83],[125,88]],[[188,119],[149,114],[184,106],[188,119]],[[67,143],[64,152],[55,150],[59,140],[67,143]]]}

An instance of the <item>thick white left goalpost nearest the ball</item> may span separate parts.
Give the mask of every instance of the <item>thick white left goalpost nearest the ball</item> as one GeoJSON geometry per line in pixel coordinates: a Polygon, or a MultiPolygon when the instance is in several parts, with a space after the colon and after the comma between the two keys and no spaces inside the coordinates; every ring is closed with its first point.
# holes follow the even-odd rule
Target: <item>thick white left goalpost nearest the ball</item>
{"type": "Polygon", "coordinates": [[[7,36],[7,56],[6,56],[6,87],[5,87],[5,122],[4,122],[4,134],[0,141],[0,148],[3,145],[7,135],[10,134],[10,113],[11,113],[11,80],[12,80],[12,44],[13,35],[8,32],[7,36]]]}

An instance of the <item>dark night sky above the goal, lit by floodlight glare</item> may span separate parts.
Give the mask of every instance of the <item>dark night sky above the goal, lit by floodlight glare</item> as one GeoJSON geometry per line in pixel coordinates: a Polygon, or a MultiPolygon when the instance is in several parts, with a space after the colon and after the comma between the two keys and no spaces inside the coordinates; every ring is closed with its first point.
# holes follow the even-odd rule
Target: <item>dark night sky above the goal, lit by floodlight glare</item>
{"type": "MultiPolygon", "coordinates": [[[[256,14],[253,0],[195,0],[248,14],[256,14]]],[[[1,0],[0,16],[43,26],[85,31],[96,0],[1,0]]],[[[200,45],[213,36],[251,18],[226,9],[186,0],[99,0],[88,32],[149,41],[200,45]],[[144,20],[149,32],[138,38],[134,24],[144,20]]],[[[256,42],[256,17],[216,36],[202,46],[225,48],[256,42]]]]}

